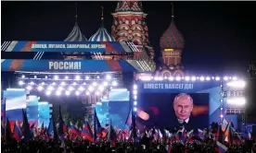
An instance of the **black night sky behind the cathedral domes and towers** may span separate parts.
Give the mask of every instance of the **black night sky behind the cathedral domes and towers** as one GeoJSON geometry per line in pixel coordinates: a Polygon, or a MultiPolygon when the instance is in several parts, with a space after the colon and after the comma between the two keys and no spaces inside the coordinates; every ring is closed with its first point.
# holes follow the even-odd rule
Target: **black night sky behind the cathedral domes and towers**
{"type": "MultiPolygon", "coordinates": [[[[75,2],[1,2],[3,41],[63,41],[75,21],[75,2]]],[[[87,39],[100,27],[111,32],[117,2],[78,2],[78,24],[87,39]]],[[[160,36],[171,23],[171,2],[143,2],[149,41],[160,65],[160,36]]],[[[174,22],[186,46],[182,63],[200,75],[249,75],[256,58],[255,2],[174,2],[174,22]]],[[[2,53],[2,58],[5,56],[2,53]]]]}

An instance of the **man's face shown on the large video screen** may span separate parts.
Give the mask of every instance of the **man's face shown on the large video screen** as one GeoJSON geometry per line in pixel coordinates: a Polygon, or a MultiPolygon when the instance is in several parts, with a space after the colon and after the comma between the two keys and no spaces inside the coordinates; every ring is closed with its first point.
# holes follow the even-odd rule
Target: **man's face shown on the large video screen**
{"type": "Polygon", "coordinates": [[[178,119],[186,120],[193,110],[193,103],[189,96],[183,95],[177,98],[173,108],[178,119]]]}

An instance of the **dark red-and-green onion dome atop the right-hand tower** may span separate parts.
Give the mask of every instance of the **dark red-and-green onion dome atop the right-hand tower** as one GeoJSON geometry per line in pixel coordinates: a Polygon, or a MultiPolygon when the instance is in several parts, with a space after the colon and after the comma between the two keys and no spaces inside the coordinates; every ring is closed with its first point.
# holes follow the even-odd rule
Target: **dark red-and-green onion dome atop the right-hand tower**
{"type": "Polygon", "coordinates": [[[185,39],[182,33],[176,28],[174,21],[168,29],[160,37],[161,49],[183,49],[185,46],[185,39]]]}

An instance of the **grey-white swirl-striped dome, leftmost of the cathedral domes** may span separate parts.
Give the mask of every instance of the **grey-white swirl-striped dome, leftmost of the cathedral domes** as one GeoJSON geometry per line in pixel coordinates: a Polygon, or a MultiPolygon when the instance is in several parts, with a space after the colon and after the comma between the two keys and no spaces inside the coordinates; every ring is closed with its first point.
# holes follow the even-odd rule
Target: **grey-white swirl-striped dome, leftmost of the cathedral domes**
{"type": "Polygon", "coordinates": [[[73,29],[71,30],[69,36],[64,41],[87,41],[81,32],[78,23],[75,22],[73,29]]]}

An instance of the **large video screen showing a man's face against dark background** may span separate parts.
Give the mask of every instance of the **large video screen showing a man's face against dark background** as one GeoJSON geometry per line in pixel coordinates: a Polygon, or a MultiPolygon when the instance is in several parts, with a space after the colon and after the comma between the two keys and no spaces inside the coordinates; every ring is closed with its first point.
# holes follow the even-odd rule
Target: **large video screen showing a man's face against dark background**
{"type": "Polygon", "coordinates": [[[141,93],[137,122],[149,127],[187,129],[209,126],[208,93],[141,93]]]}

